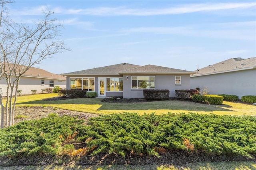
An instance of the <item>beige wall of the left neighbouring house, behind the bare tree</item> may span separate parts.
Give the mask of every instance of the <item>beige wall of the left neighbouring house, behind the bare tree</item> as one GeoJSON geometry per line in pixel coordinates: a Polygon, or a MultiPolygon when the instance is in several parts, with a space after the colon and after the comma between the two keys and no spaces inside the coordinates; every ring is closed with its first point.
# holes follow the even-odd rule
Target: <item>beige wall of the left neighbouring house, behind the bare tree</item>
{"type": "MultiPolygon", "coordinates": [[[[41,89],[47,89],[50,87],[50,80],[54,81],[54,86],[58,85],[60,86],[60,88],[66,89],[66,80],[21,77],[19,81],[18,90],[22,90],[22,95],[32,94],[31,90],[36,90],[36,93],[41,93],[41,89]],[[44,80],[44,85],[41,84],[41,80],[44,80]]],[[[0,87],[2,88],[2,95],[6,96],[6,79],[0,80],[0,87]]],[[[50,88],[53,89],[53,87],[50,88]]]]}

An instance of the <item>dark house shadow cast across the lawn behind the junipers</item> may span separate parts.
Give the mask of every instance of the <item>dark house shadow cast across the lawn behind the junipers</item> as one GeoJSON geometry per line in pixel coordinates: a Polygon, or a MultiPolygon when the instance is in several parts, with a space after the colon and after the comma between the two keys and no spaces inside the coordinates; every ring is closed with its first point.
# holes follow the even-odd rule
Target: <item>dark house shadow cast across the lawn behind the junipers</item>
{"type": "Polygon", "coordinates": [[[29,101],[23,103],[17,103],[17,105],[100,105],[95,109],[96,111],[142,111],[142,110],[184,110],[184,111],[233,111],[228,108],[232,108],[230,105],[208,105],[204,103],[194,103],[191,101],[152,101],[152,102],[142,102],[142,103],[106,103],[102,102],[102,99],[98,98],[78,98],[78,99],[68,99],[59,101],[46,101],[37,100],[29,101]]]}

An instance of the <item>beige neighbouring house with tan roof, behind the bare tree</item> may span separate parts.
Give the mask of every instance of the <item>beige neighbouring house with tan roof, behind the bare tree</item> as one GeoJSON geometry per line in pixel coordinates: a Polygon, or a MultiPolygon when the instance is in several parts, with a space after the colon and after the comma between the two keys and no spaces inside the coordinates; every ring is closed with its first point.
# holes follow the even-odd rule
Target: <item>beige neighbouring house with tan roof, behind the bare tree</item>
{"type": "MultiPolygon", "coordinates": [[[[30,67],[28,71],[20,77],[18,90],[22,91],[22,95],[27,95],[32,93],[31,90],[36,90],[36,93],[41,93],[42,89],[53,89],[56,85],[60,86],[62,89],[66,89],[66,77],[50,73],[43,69],[30,67]]],[[[5,77],[0,79],[0,87],[2,88],[2,95],[6,96],[7,84],[5,77]]]]}

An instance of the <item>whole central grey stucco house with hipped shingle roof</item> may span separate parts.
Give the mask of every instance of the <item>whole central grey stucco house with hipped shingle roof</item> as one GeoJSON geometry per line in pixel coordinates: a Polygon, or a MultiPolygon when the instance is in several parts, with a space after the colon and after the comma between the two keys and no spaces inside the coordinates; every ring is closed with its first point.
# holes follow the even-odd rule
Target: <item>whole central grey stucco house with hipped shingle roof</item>
{"type": "Polygon", "coordinates": [[[72,73],[64,73],[67,89],[95,91],[98,97],[123,96],[144,98],[143,89],[168,89],[175,97],[176,89],[190,89],[190,74],[195,72],[121,63],[72,73]]]}

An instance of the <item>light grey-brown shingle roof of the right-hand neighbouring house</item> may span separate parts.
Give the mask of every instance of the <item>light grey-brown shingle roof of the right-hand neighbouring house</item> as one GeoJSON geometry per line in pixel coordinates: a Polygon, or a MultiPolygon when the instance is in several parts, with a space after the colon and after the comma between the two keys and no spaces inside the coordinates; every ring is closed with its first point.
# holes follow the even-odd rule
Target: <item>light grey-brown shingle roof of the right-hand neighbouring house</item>
{"type": "Polygon", "coordinates": [[[240,71],[246,69],[256,69],[256,57],[248,59],[231,58],[225,61],[221,61],[219,63],[199,69],[198,73],[191,75],[191,77],[240,71]]]}

